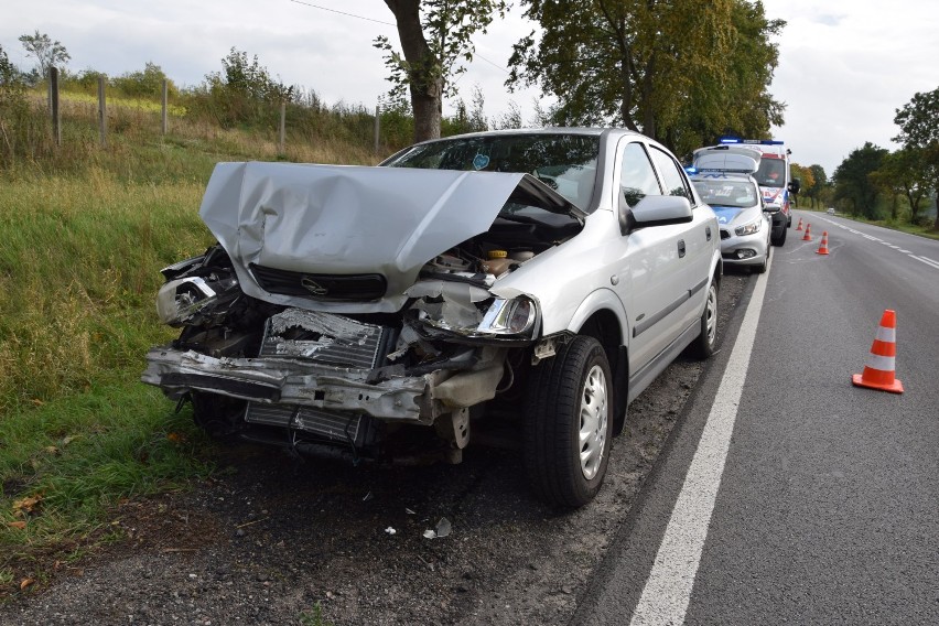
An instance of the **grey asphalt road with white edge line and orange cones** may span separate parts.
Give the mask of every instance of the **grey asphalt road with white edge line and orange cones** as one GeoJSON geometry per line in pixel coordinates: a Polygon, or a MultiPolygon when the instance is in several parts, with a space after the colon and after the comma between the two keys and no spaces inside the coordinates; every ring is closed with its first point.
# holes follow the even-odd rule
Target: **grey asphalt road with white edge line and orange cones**
{"type": "Polygon", "coordinates": [[[752,287],[571,623],[939,623],[939,241],[796,212],[752,287]]]}

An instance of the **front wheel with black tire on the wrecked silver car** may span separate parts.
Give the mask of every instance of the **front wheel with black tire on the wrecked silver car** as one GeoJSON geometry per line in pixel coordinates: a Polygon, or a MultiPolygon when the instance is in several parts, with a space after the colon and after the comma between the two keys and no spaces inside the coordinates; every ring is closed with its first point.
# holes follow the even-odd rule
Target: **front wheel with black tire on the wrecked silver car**
{"type": "Polygon", "coordinates": [[[600,490],[613,440],[612,381],[603,346],[587,336],[574,337],[532,368],[525,465],[532,488],[546,501],[581,507],[600,490]]]}

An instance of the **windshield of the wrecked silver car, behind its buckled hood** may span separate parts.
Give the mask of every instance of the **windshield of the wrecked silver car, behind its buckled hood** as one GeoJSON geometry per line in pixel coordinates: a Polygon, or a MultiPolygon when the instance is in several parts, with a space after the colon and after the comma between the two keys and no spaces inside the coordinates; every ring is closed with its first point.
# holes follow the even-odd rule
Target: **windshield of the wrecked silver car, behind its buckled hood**
{"type": "Polygon", "coordinates": [[[600,137],[565,133],[482,134],[413,145],[391,168],[532,174],[586,211],[596,181],[600,137]]]}

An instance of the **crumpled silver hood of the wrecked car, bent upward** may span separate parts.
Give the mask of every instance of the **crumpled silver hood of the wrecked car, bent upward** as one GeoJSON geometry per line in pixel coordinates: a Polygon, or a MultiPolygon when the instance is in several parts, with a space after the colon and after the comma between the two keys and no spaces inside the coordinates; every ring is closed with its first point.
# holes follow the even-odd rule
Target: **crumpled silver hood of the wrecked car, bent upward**
{"type": "Polygon", "coordinates": [[[578,212],[528,174],[248,162],[216,165],[199,215],[248,295],[316,311],[393,312],[423,265],[485,233],[517,188],[554,211],[578,212]],[[331,302],[270,293],[252,266],[379,273],[386,296],[331,302]]]}

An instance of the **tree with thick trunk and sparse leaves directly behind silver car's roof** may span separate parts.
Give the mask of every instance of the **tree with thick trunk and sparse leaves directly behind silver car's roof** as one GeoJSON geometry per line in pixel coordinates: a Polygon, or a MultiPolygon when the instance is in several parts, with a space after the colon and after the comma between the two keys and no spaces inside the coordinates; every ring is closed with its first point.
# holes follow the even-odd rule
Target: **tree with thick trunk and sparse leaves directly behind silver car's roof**
{"type": "Polygon", "coordinates": [[[401,52],[388,37],[375,46],[387,54],[385,64],[395,84],[393,97],[410,94],[414,112],[414,141],[440,137],[443,98],[456,91],[454,79],[465,72],[462,61],[473,60],[472,36],[486,32],[494,14],[505,15],[505,0],[385,0],[395,14],[401,52]]]}

